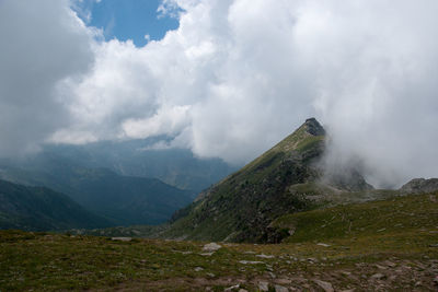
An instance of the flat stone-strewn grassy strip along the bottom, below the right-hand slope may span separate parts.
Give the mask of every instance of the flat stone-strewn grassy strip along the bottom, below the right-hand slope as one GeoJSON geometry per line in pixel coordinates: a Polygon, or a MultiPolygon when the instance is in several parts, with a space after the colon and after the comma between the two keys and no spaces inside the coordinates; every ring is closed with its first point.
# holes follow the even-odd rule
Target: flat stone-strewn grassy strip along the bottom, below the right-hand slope
{"type": "Polygon", "coordinates": [[[0,290],[437,291],[437,232],[254,245],[8,231],[0,290]]]}

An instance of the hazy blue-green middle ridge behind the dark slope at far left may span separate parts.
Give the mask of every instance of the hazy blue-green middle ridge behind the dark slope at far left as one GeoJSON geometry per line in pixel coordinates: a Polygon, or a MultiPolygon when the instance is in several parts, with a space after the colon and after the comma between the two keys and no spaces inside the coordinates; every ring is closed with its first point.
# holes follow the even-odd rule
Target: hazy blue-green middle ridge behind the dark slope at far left
{"type": "Polygon", "coordinates": [[[45,170],[3,168],[1,177],[68,195],[112,225],[159,224],[193,200],[193,192],[157,178],[120,176],[105,168],[47,163],[45,170]]]}

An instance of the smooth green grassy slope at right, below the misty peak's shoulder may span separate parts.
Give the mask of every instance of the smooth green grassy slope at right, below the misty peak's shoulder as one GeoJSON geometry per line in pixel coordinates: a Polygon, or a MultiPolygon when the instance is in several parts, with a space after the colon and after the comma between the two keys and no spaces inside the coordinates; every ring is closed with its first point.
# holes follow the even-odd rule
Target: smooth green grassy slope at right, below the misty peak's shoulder
{"type": "MultiPolygon", "coordinates": [[[[393,195],[399,195],[393,191],[393,195]]],[[[437,227],[437,192],[287,214],[270,224],[278,242],[297,243],[410,234],[437,227]]]]}

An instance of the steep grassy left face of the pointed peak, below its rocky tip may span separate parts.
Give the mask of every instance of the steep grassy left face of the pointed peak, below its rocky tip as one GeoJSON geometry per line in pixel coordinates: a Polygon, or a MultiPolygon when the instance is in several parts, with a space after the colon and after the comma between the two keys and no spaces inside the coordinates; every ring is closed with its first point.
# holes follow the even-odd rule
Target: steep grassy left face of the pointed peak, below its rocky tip
{"type": "Polygon", "coordinates": [[[286,188],[314,176],[308,164],[322,153],[324,136],[312,136],[304,124],[260,157],[205,192],[184,211],[164,237],[264,241],[257,234],[268,222],[292,210],[314,208],[286,188]]]}

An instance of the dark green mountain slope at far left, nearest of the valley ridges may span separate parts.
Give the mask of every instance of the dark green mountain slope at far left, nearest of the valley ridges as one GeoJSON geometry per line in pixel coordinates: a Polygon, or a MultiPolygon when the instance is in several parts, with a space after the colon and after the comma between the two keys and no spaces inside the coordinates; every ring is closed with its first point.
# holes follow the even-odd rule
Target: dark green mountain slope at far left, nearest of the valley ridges
{"type": "Polygon", "coordinates": [[[0,180],[0,229],[48,231],[108,226],[110,222],[45,187],[0,180]]]}

